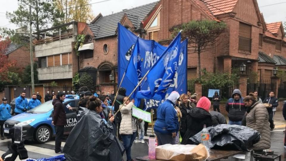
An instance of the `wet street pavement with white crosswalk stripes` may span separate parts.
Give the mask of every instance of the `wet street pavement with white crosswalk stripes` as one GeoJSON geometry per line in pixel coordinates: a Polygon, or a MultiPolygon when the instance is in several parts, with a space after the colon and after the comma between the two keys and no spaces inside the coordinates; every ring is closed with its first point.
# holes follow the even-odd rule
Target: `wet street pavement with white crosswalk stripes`
{"type": "MultiPolygon", "coordinates": [[[[277,118],[279,116],[279,112],[277,112],[277,118]]],[[[276,121],[276,124],[280,124],[279,128],[274,129],[271,131],[271,150],[281,153],[282,154],[282,160],[285,160],[286,158],[286,150],[283,148],[283,140],[284,140],[284,133],[283,130],[285,129],[281,126],[281,121],[276,121]]],[[[151,128],[148,129],[148,134],[151,134],[151,128]]],[[[145,138],[145,144],[140,143],[139,139],[136,138],[136,142],[132,146],[131,156],[135,160],[136,157],[148,155],[148,145],[147,145],[147,138],[145,138]]],[[[0,140],[0,155],[2,155],[5,151],[8,150],[7,146],[10,143],[11,140],[5,139],[0,140]]],[[[63,140],[62,146],[64,146],[66,139],[63,140]]],[[[33,141],[26,141],[25,142],[25,148],[28,150],[28,156],[33,159],[40,159],[43,157],[52,157],[56,156],[54,152],[54,145],[55,140],[51,140],[48,143],[44,144],[38,144],[33,141]]],[[[63,148],[63,147],[62,147],[63,148]]],[[[126,160],[126,155],[124,154],[124,160],[126,160]]],[[[19,161],[17,159],[16,161],[19,161]]]]}

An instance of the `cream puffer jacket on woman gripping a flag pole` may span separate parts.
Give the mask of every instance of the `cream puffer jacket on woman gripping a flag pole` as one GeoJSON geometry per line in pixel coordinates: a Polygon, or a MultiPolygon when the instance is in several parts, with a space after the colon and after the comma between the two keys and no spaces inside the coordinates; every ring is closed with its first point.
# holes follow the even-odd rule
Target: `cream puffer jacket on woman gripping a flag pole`
{"type": "Polygon", "coordinates": [[[134,104],[130,102],[128,105],[120,105],[119,108],[121,112],[121,123],[120,123],[120,129],[119,134],[121,135],[131,135],[133,132],[136,132],[137,126],[136,121],[132,119],[132,106],[134,104]],[[122,107],[121,107],[122,106],[122,107]]]}

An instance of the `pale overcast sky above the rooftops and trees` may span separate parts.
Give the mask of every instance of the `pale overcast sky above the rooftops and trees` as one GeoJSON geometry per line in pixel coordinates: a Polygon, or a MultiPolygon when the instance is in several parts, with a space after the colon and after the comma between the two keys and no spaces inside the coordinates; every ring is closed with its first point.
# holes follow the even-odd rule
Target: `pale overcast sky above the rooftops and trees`
{"type": "MultiPolygon", "coordinates": [[[[16,24],[11,24],[6,18],[6,12],[13,12],[18,8],[18,0],[9,0],[9,3],[3,4],[4,0],[1,0],[2,4],[0,5],[0,27],[8,27],[11,29],[17,29],[16,24]]],[[[103,0],[91,0],[90,3],[95,3],[103,0]]],[[[144,4],[152,3],[158,0],[109,0],[96,4],[92,4],[92,10],[94,16],[97,16],[101,13],[103,16],[110,15],[116,12],[120,12],[123,9],[130,9],[133,7],[138,7],[144,4]]],[[[257,0],[260,12],[263,13],[266,23],[277,22],[277,21],[286,21],[286,0],[257,0]],[[276,4],[280,3],[280,4],[276,4]],[[273,5],[271,5],[273,4],[273,5]],[[266,6],[269,5],[269,6],[266,6]]]]}

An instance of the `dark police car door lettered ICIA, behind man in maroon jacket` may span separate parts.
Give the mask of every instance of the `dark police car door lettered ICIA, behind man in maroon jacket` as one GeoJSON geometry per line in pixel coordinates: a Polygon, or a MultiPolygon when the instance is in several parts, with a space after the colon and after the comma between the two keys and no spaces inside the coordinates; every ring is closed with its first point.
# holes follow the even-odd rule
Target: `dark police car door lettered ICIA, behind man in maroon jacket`
{"type": "Polygon", "coordinates": [[[71,107],[76,107],[76,100],[70,100],[66,103],[63,103],[64,109],[66,112],[66,126],[64,129],[64,133],[68,134],[72,128],[77,124],[77,113],[74,111],[70,111],[66,106],[70,105],[71,107]]]}

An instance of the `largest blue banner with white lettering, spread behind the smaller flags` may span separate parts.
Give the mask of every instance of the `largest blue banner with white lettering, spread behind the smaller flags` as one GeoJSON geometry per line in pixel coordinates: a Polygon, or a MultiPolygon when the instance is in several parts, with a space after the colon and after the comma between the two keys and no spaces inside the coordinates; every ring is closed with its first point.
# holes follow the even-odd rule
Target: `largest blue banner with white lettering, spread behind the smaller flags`
{"type": "MultiPolygon", "coordinates": [[[[127,30],[124,26],[118,24],[118,85],[122,79],[123,73],[128,66],[128,62],[132,55],[132,51],[137,42],[138,36],[134,35],[132,32],[127,30]]],[[[139,51],[140,51],[140,61],[138,61],[137,65],[141,67],[137,67],[137,76],[138,81],[146,74],[146,72],[154,66],[154,64],[158,61],[160,56],[163,54],[167,47],[162,46],[154,40],[146,40],[139,38],[139,51]],[[141,75],[139,75],[141,74],[141,75]]],[[[181,43],[181,54],[179,59],[179,65],[177,69],[177,73],[175,73],[174,81],[169,86],[167,90],[167,95],[172,91],[178,91],[180,94],[186,93],[186,64],[187,64],[187,45],[186,41],[181,43]],[[184,45],[183,45],[184,44],[184,45]],[[182,50],[184,49],[184,50],[182,50]]],[[[139,60],[139,57],[138,57],[139,60]]],[[[136,77],[136,74],[133,75],[136,77]]],[[[130,95],[130,93],[134,89],[133,83],[128,79],[124,78],[122,82],[122,87],[126,88],[126,95],[130,95]]],[[[149,84],[147,81],[143,81],[141,84],[141,90],[148,90],[149,84]]],[[[164,101],[164,100],[163,100],[164,101]]],[[[156,108],[158,107],[162,100],[153,100],[148,99],[145,101],[147,108],[156,108]]]]}

